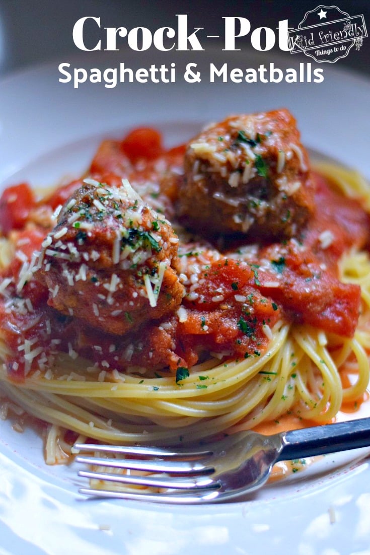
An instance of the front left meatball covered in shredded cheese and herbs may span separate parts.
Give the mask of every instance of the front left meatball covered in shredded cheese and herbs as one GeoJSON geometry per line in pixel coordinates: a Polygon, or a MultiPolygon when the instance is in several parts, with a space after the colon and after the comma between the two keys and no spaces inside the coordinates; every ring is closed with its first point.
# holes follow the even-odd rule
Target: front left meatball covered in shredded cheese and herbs
{"type": "Polygon", "coordinates": [[[48,304],[122,335],[176,310],[178,238],[127,180],[93,179],[68,199],[43,243],[37,276],[48,304]]]}

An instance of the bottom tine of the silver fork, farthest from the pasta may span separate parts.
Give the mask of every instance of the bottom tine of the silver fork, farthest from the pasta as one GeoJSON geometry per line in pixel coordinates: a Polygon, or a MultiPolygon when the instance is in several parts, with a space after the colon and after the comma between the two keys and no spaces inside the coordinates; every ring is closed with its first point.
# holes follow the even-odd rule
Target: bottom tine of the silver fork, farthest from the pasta
{"type": "Polygon", "coordinates": [[[149,501],[151,503],[171,503],[178,505],[202,504],[216,501],[219,497],[218,490],[205,490],[204,494],[194,495],[192,492],[185,493],[131,493],[109,490],[93,490],[80,488],[79,493],[90,497],[105,497],[113,499],[129,499],[130,501],[149,501]]]}

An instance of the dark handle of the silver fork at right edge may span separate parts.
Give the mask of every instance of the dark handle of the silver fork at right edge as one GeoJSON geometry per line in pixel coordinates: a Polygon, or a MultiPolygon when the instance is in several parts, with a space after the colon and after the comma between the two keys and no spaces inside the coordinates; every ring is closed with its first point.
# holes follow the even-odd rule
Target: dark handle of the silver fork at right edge
{"type": "Polygon", "coordinates": [[[292,430],[278,435],[283,445],[278,461],[325,455],[370,446],[370,418],[292,430]]]}

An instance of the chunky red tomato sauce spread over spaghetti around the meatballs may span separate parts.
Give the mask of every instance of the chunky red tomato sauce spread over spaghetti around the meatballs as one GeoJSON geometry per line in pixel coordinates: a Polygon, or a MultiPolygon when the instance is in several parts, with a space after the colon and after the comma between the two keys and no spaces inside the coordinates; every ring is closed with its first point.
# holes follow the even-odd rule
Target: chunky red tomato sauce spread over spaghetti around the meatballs
{"type": "MultiPolygon", "coordinates": [[[[157,132],[139,129],[121,141],[104,141],[89,173],[103,183],[119,183],[122,177],[139,184],[156,180],[160,190],[155,200],[163,197],[163,210],[174,212],[174,176],[181,179],[183,156],[183,146],[165,150],[157,132]]],[[[32,210],[44,205],[55,210],[82,180],[64,185],[39,203],[27,184],[8,188],[0,199],[0,226],[16,254],[1,275],[2,282],[11,282],[2,294],[0,325],[10,350],[9,376],[24,379],[60,350],[88,357],[103,370],[144,366],[174,371],[179,366],[191,367],[209,352],[219,354],[221,360],[259,357],[268,346],[272,327],[281,319],[353,336],[360,289],[339,281],[337,262],[351,246],[368,244],[368,215],[357,201],[334,191],[322,176],[315,174],[314,180],[316,213],[297,238],[265,243],[247,261],[236,256],[236,242],[233,246],[229,241],[227,248],[219,249],[218,259],[210,258],[197,276],[196,299],[186,295],[180,313],[146,322],[122,337],[104,334],[78,316],[61,315],[48,306],[49,291],[33,278],[32,268],[19,285],[27,264],[54,225],[37,225],[32,210]],[[325,248],[323,238],[332,239],[325,248]]]]}

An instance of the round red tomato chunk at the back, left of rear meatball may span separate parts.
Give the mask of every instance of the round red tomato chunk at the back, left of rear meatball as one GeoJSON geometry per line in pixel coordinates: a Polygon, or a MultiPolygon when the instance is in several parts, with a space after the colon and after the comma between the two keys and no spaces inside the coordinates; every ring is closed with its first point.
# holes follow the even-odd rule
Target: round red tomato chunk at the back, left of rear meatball
{"type": "Polygon", "coordinates": [[[120,143],[121,151],[131,160],[154,160],[163,154],[161,134],[155,129],[141,127],[131,131],[120,143]]]}

